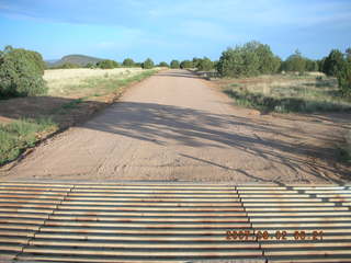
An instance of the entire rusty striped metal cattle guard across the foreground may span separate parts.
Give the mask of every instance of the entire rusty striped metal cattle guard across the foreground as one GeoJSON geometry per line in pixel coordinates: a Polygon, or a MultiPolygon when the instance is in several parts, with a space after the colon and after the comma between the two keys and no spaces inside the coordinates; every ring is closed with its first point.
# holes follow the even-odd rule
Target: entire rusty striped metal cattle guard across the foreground
{"type": "Polygon", "coordinates": [[[350,201],[336,185],[3,182],[0,260],[351,262],[350,201]]]}

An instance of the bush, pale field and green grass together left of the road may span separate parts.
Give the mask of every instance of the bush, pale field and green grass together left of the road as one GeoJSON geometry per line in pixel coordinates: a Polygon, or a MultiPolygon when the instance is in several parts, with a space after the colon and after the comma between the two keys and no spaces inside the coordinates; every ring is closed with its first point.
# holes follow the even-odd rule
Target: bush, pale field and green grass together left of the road
{"type": "Polygon", "coordinates": [[[133,59],[125,59],[123,66],[109,59],[84,67],[66,61],[60,69],[45,70],[36,52],[11,46],[0,52],[0,165],[48,135],[86,119],[125,87],[158,70],[151,59],[141,65],[144,69],[133,59]]]}

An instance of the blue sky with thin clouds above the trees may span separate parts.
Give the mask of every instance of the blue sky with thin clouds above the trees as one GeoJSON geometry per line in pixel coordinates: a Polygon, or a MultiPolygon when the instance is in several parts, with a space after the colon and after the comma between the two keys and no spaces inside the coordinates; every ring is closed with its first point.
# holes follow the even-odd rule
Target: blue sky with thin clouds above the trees
{"type": "Polygon", "coordinates": [[[0,0],[0,47],[45,59],[207,56],[256,39],[286,58],[351,46],[350,0],[0,0]]]}

